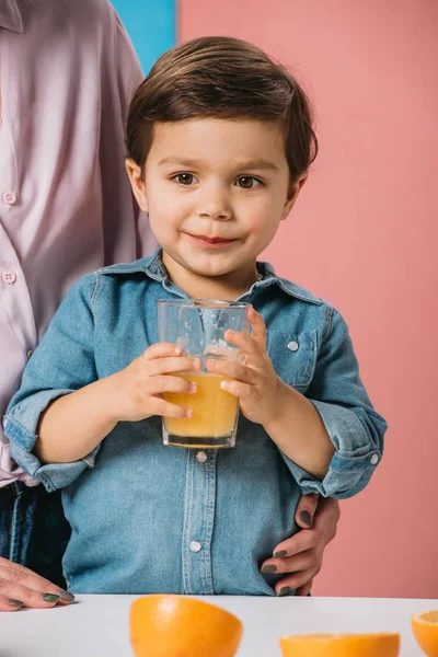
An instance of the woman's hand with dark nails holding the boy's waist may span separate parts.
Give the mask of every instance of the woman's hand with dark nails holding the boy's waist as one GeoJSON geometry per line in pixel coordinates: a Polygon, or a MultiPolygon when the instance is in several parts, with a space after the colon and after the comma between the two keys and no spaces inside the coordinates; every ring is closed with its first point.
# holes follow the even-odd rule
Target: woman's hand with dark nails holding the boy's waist
{"type": "Polygon", "coordinates": [[[310,592],[313,578],[321,570],[324,550],[336,535],[339,503],[318,498],[318,494],[301,496],[296,511],[296,522],[301,531],[276,545],[273,558],[262,564],[262,573],[268,566],[265,572],[286,575],[275,585],[277,596],[287,596],[292,589],[297,589],[297,596],[310,592]]]}

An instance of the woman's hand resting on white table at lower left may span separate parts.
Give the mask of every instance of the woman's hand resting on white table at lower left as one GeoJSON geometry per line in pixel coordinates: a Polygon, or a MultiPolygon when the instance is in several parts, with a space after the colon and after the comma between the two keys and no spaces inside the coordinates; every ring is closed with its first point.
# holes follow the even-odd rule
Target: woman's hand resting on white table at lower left
{"type": "Polygon", "coordinates": [[[49,609],[69,604],[74,596],[39,577],[24,566],[0,557],[0,611],[18,611],[22,607],[49,609]]]}

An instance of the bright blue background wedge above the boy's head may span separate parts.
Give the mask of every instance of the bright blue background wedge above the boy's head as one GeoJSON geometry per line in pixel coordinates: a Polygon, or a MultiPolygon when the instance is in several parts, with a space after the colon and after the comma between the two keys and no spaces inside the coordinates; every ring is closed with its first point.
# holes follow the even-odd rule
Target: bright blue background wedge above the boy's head
{"type": "Polygon", "coordinates": [[[176,0],[112,0],[147,74],[176,41],[176,0]]]}

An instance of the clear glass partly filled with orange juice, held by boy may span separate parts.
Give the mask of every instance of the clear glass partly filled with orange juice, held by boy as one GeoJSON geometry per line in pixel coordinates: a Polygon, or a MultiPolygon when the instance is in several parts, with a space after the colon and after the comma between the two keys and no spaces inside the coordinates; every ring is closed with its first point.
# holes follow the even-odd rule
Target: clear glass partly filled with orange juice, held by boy
{"type": "Polygon", "coordinates": [[[164,399],[193,411],[192,417],[163,417],[164,445],[192,448],[234,447],[239,400],[221,389],[224,377],[206,369],[207,359],[242,361],[241,351],[224,339],[228,328],[249,332],[249,303],[210,299],[164,299],[158,304],[158,337],[198,357],[201,369],[176,376],[196,383],[194,394],[166,392],[164,399]]]}

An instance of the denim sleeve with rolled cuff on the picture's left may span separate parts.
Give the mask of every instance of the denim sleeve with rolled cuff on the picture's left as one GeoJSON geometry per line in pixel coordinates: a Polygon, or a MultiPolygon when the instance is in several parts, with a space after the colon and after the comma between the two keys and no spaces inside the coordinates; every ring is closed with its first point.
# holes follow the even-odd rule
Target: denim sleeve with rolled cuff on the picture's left
{"type": "MultiPolygon", "coordinates": [[[[57,397],[97,379],[94,362],[92,299],[96,275],[82,277],[51,320],[23,373],[21,388],[3,418],[13,459],[47,491],[62,488],[94,465],[99,447],[72,463],[41,463],[33,453],[42,413],[57,397]]],[[[62,437],[59,437],[62,440],[62,437]]]]}

